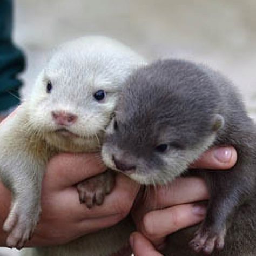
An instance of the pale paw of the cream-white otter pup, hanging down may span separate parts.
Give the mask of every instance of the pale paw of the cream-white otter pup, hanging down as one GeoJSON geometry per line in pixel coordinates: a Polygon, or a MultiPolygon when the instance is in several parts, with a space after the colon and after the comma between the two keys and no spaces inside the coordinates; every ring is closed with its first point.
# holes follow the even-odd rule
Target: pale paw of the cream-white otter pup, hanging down
{"type": "Polygon", "coordinates": [[[17,203],[14,204],[3,225],[3,230],[9,232],[6,245],[20,250],[32,237],[38,219],[39,211],[28,214],[24,206],[19,207],[17,203]]]}

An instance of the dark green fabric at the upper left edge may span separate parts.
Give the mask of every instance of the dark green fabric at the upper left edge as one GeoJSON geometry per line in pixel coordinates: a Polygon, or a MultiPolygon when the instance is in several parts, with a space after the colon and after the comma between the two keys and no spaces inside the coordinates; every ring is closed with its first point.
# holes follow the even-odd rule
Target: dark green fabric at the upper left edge
{"type": "Polygon", "coordinates": [[[12,8],[12,0],[0,0],[0,111],[19,103],[17,75],[25,67],[22,51],[11,40],[12,8]]]}

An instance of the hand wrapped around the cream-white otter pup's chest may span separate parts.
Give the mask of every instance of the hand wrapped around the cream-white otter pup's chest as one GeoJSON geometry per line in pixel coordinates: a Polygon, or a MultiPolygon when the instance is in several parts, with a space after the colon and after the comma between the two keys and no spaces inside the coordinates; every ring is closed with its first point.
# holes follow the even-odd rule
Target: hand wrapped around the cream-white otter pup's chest
{"type": "MultiPolygon", "coordinates": [[[[26,246],[64,244],[122,220],[131,210],[139,185],[121,174],[117,175],[116,186],[103,205],[89,210],[79,203],[74,185],[103,171],[105,166],[98,154],[62,153],[53,157],[43,180],[41,218],[26,246]]],[[[0,184],[0,191],[0,225],[3,225],[11,196],[3,184],[0,184]]],[[[6,234],[0,234],[1,246],[5,238],[6,234]]]]}

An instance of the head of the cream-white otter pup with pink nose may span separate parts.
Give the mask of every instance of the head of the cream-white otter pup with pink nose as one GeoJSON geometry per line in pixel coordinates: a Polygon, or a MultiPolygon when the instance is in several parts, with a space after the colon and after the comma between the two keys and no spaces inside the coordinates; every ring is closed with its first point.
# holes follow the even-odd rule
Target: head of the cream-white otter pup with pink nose
{"type": "Polygon", "coordinates": [[[96,150],[124,80],[144,63],[137,53],[106,37],[60,45],[31,93],[32,126],[62,150],[96,150]]]}

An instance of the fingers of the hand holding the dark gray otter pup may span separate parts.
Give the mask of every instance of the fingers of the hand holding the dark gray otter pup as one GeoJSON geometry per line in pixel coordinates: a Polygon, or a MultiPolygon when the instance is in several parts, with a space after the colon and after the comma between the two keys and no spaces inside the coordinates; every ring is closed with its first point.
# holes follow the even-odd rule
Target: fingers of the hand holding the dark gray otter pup
{"type": "MultiPolygon", "coordinates": [[[[226,170],[236,161],[233,147],[213,147],[191,168],[226,170]]],[[[202,201],[208,198],[205,181],[198,177],[177,178],[168,186],[149,188],[132,210],[138,228],[130,236],[134,255],[160,256],[157,249],[164,247],[167,235],[204,219],[207,204],[202,201]]]]}

